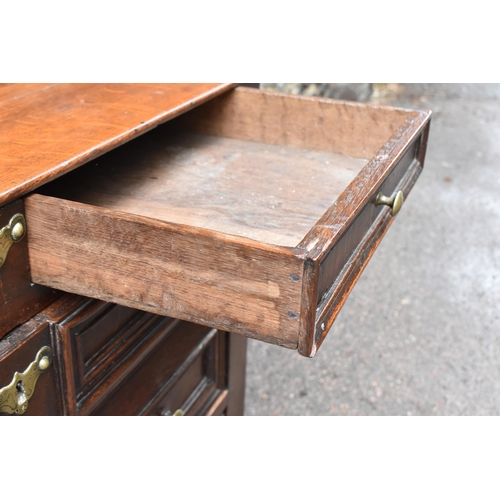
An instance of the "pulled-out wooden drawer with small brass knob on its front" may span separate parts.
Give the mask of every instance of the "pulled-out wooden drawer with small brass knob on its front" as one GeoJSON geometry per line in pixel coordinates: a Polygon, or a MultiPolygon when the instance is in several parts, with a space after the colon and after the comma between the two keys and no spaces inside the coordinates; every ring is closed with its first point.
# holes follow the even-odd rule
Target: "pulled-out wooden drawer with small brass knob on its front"
{"type": "Polygon", "coordinates": [[[231,90],[27,196],[32,280],[314,356],[429,121],[231,90]]]}

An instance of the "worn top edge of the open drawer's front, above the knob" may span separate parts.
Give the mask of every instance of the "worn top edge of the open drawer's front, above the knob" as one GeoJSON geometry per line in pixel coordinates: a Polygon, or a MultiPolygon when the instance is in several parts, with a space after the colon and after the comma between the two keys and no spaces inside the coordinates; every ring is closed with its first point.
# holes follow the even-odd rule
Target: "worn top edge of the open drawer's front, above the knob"
{"type": "Polygon", "coordinates": [[[296,247],[297,255],[321,260],[328,253],[335,241],[347,230],[359,210],[374,196],[387,174],[404,156],[422,129],[430,122],[430,111],[415,113],[417,116],[409,118],[393,134],[306,234],[296,247]],[[358,192],[362,195],[356,196],[358,192]],[[343,211],[347,211],[346,208],[348,208],[347,217],[343,214],[343,211]]]}

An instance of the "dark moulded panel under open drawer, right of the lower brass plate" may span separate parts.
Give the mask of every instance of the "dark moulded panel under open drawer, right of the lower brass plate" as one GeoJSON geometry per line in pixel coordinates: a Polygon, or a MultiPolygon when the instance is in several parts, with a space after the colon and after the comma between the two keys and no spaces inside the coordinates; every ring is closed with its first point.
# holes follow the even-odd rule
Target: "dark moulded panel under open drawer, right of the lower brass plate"
{"type": "Polygon", "coordinates": [[[55,327],[66,359],[69,413],[88,414],[100,405],[178,323],[75,297],[73,311],[55,327]]]}

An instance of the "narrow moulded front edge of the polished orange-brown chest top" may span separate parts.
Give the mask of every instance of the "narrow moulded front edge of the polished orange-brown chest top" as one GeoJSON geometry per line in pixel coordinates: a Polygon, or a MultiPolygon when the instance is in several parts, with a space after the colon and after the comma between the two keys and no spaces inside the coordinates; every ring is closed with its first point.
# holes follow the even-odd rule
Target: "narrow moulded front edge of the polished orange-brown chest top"
{"type": "Polygon", "coordinates": [[[166,112],[159,113],[158,115],[145,121],[144,123],[138,124],[134,126],[134,128],[127,130],[127,132],[117,135],[108,141],[100,143],[98,146],[92,147],[82,154],[79,154],[73,158],[69,158],[67,161],[64,161],[62,163],[58,163],[52,168],[48,168],[44,172],[38,175],[34,175],[29,180],[20,182],[11,189],[0,192],[0,206],[12,200],[15,200],[16,198],[19,198],[20,196],[23,196],[54,179],[57,179],[61,175],[64,175],[71,170],[74,170],[75,168],[78,168],[85,163],[94,160],[95,158],[98,158],[104,153],[107,153],[108,151],[111,151],[118,146],[121,146],[132,139],[135,139],[136,137],[139,137],[140,135],[148,132],[149,130],[152,130],[158,125],[161,125],[162,123],[165,123],[177,116],[186,113],[187,111],[190,111],[191,109],[209,101],[210,99],[217,97],[224,92],[227,92],[231,88],[234,88],[234,86],[235,84],[233,83],[221,84],[218,87],[215,87],[214,89],[200,94],[199,96],[181,104],[180,106],[171,108],[166,112]]]}

